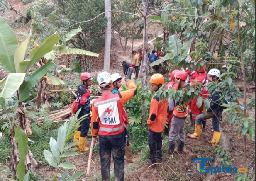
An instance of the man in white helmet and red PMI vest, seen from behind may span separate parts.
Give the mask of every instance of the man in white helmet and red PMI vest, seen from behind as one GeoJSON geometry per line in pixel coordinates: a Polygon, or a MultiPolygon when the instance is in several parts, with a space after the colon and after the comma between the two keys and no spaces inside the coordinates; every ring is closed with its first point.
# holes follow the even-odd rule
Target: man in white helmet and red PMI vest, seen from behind
{"type": "Polygon", "coordinates": [[[113,154],[115,180],[124,179],[124,124],[129,124],[124,104],[137,93],[133,81],[127,80],[127,91],[112,94],[112,80],[108,72],[97,77],[102,96],[92,104],[91,135],[97,141],[99,135],[99,153],[102,180],[110,180],[110,155],[113,154]]]}

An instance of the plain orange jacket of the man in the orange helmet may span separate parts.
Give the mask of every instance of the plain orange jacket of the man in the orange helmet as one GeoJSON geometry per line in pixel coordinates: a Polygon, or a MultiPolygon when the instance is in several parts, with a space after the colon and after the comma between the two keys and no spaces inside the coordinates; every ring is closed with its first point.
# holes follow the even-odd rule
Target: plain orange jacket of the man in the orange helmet
{"type": "Polygon", "coordinates": [[[159,97],[154,96],[151,100],[149,118],[147,124],[151,125],[151,130],[161,133],[164,130],[164,125],[167,116],[168,101],[165,99],[159,101],[159,97]]]}

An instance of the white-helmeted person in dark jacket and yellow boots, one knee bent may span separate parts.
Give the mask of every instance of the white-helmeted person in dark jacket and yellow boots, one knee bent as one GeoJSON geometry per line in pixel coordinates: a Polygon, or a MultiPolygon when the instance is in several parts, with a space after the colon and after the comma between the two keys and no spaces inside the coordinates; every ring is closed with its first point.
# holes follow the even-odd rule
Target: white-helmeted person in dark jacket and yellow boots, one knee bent
{"type": "MultiPolygon", "coordinates": [[[[220,70],[218,69],[211,69],[208,73],[208,75],[212,78],[213,82],[218,82],[219,77],[220,77],[220,70]]],[[[215,90],[213,90],[213,92],[215,92],[215,90]]],[[[220,101],[219,97],[221,95],[219,95],[221,92],[215,92],[214,94],[212,94],[212,99],[211,102],[213,104],[211,104],[210,108],[207,110],[207,114],[205,114],[204,112],[202,112],[202,114],[199,114],[196,118],[195,118],[195,132],[194,134],[188,134],[189,138],[192,139],[200,139],[200,135],[202,133],[202,121],[205,121],[206,119],[209,118],[213,118],[212,122],[213,122],[213,139],[210,142],[213,146],[216,146],[218,144],[218,142],[220,141],[220,120],[221,120],[221,115],[222,115],[222,111],[223,111],[223,107],[219,105],[220,101]]]]}

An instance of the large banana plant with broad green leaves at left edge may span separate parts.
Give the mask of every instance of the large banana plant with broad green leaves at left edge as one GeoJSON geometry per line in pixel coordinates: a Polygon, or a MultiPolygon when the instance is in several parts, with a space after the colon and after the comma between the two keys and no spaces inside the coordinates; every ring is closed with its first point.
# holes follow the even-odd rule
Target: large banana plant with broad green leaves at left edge
{"type": "MultiPolygon", "coordinates": [[[[7,109],[5,106],[5,99],[11,97],[17,91],[18,102],[16,103],[16,111],[18,125],[26,130],[26,118],[24,111],[21,107],[22,101],[26,100],[29,97],[29,90],[36,84],[38,84],[39,80],[42,79],[48,72],[50,68],[53,68],[55,64],[52,62],[54,60],[54,53],[61,54],[71,54],[71,53],[79,53],[91,56],[99,56],[96,53],[88,52],[85,50],[79,49],[69,49],[67,46],[60,44],[61,35],[59,32],[56,32],[54,35],[47,37],[43,40],[42,44],[35,45],[34,49],[29,53],[29,59],[25,59],[25,54],[27,51],[27,46],[30,42],[32,32],[33,32],[33,23],[31,23],[31,29],[27,39],[18,44],[16,36],[12,31],[11,27],[5,22],[4,18],[0,16],[0,59],[1,65],[5,68],[5,70],[9,71],[10,74],[5,77],[0,82],[0,103],[3,108],[5,108],[5,112],[7,113],[7,109]],[[48,59],[45,64],[40,67],[38,70],[35,70],[31,75],[29,70],[34,66],[35,63],[40,61],[42,58],[46,56],[48,59]],[[49,58],[50,57],[50,58],[49,58]],[[53,58],[51,58],[53,57],[53,58]],[[18,110],[18,111],[17,111],[18,110]]],[[[80,30],[80,29],[78,29],[80,30]]],[[[75,31],[78,31],[75,30],[75,31]]],[[[71,36],[73,36],[75,31],[67,33],[64,37],[64,40],[69,40],[71,36]]],[[[33,69],[34,70],[34,69],[33,69]]],[[[49,78],[49,77],[48,77],[49,78]]],[[[56,81],[55,81],[56,82],[56,81]]],[[[59,81],[60,82],[60,81],[59,81]]],[[[15,118],[15,117],[14,117],[15,118]]],[[[11,124],[11,142],[15,140],[14,138],[14,124],[10,120],[11,124]]],[[[15,147],[12,146],[12,155],[10,157],[10,167],[12,170],[12,178],[15,179],[16,176],[16,163],[17,157],[14,155],[15,147]]]]}

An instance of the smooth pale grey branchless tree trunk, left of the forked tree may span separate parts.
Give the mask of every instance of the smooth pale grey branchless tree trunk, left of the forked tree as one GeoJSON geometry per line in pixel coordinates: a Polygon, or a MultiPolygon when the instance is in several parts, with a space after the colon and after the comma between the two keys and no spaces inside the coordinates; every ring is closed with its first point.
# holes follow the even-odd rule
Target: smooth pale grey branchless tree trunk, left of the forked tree
{"type": "MultiPolygon", "coordinates": [[[[105,0],[105,12],[111,11],[111,0],[105,0]]],[[[105,33],[105,54],[104,54],[104,71],[110,70],[110,46],[111,46],[111,12],[105,14],[107,18],[107,27],[105,33]]]]}

